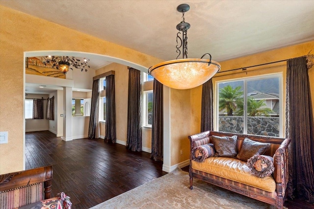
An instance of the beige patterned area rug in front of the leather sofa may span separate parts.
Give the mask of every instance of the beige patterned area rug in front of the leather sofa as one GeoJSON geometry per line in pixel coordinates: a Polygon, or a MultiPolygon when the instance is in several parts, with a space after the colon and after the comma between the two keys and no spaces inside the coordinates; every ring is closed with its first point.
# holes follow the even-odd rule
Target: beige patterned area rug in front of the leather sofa
{"type": "Polygon", "coordinates": [[[91,209],[276,209],[246,196],[193,180],[177,169],[145,185],[113,197],[91,209]]]}

